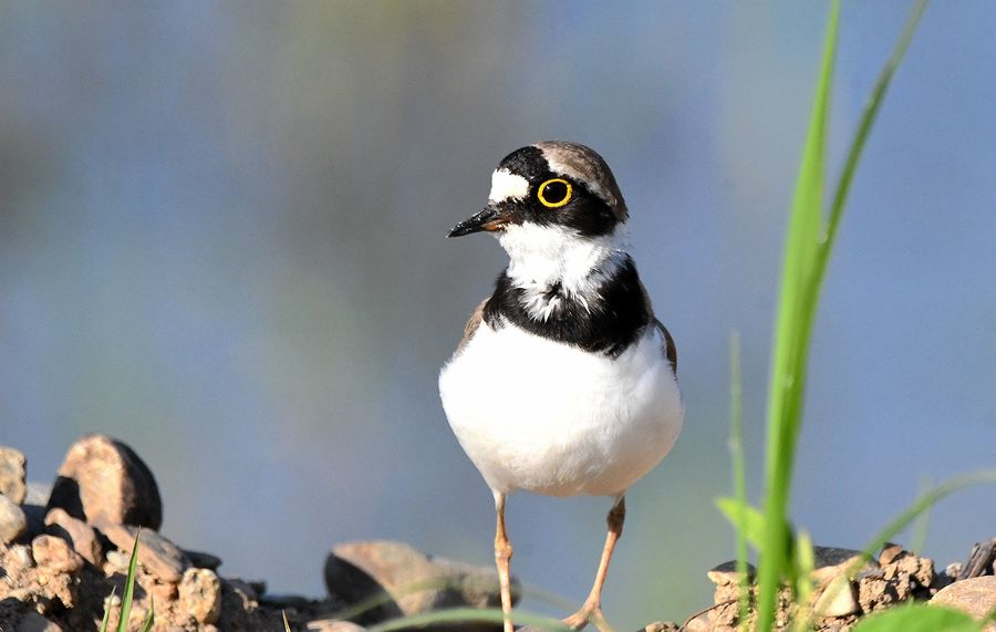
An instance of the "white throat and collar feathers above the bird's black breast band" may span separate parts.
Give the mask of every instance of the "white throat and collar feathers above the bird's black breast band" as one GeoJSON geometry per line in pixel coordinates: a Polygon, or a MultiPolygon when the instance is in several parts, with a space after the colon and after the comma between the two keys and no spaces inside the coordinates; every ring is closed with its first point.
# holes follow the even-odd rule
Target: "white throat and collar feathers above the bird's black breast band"
{"type": "Polygon", "coordinates": [[[591,310],[599,300],[596,290],[625,259],[625,225],[600,237],[581,237],[560,226],[525,222],[510,225],[498,238],[509,256],[506,273],[526,290],[526,308],[533,318],[546,320],[561,298],[549,294],[558,283],[561,293],[591,310]]]}

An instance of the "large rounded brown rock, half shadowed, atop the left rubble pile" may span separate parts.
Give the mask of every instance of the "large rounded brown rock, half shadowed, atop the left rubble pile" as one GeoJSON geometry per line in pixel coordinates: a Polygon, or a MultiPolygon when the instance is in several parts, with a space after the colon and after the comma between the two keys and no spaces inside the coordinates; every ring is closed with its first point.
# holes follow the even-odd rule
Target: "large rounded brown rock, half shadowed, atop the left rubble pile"
{"type": "Polygon", "coordinates": [[[81,438],[65,455],[48,504],[55,507],[96,526],[163,524],[152,472],[132,448],[103,435],[81,438]]]}

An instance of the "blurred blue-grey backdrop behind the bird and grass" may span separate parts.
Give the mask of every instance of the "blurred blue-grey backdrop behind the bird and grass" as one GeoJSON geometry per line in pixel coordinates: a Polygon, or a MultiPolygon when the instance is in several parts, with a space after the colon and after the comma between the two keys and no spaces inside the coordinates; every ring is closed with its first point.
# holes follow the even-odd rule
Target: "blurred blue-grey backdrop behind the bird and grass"
{"type": "MultiPolygon", "coordinates": [[[[909,6],[844,4],[834,165],[909,6]]],[[[823,21],[789,1],[3,2],[0,443],[49,480],[79,435],[120,437],[168,537],[279,592],[321,594],[324,552],[355,538],[490,564],[490,495],[436,377],[506,258],[443,236],[505,154],[583,142],[629,201],[687,404],[631,491],[605,608],[683,619],[733,556],[713,507],[733,329],[760,489],[823,21]]],[[[860,547],[924,480],[996,460],[994,23],[992,2],[931,7],[854,183],[793,499],[818,543],[860,547]]],[[[996,535],[994,499],[940,505],[926,552],[996,535]]],[[[580,603],[608,506],[513,497],[513,571],[580,603]]]]}

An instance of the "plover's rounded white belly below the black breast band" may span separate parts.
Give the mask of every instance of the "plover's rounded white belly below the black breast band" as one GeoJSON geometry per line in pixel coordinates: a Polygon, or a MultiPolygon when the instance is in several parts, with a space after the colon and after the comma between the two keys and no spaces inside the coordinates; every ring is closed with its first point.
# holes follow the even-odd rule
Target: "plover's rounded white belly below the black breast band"
{"type": "Polygon", "coordinates": [[[492,490],[622,494],[671,450],[684,410],[656,328],[611,360],[481,323],[439,374],[457,439],[492,490]]]}

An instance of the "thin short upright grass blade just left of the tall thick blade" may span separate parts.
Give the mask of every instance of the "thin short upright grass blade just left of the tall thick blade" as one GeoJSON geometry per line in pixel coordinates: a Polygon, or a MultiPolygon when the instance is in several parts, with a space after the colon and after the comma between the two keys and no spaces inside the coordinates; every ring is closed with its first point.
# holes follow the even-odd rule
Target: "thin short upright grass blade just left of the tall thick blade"
{"type": "MultiPolygon", "coordinates": [[[[747,466],[744,464],[744,395],[740,375],[740,334],[729,334],[729,450],[733,460],[734,497],[737,500],[737,522],[747,521],[747,466]]],[[[737,601],[740,626],[746,625],[750,607],[750,578],[747,577],[747,536],[737,529],[737,577],[740,594],[737,601]]]]}

